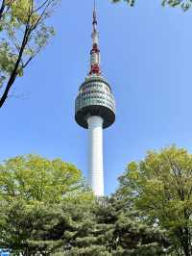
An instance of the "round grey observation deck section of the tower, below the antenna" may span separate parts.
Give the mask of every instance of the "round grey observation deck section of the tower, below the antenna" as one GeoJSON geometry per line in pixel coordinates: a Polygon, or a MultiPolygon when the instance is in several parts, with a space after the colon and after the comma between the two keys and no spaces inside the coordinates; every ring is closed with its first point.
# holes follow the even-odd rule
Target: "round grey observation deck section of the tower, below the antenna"
{"type": "Polygon", "coordinates": [[[92,115],[104,119],[103,128],[115,121],[115,100],[108,82],[101,75],[85,78],[75,102],[75,119],[88,129],[87,118],[92,115]]]}

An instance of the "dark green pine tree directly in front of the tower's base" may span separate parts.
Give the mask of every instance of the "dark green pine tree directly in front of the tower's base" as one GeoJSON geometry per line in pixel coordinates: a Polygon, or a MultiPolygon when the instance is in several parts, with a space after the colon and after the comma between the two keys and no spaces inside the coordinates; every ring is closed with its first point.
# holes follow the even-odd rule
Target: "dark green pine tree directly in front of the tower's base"
{"type": "Polygon", "coordinates": [[[70,233],[71,247],[62,255],[154,256],[164,254],[170,245],[158,229],[140,223],[131,218],[131,213],[119,209],[114,197],[100,198],[89,211],[83,225],[77,225],[70,233]]]}

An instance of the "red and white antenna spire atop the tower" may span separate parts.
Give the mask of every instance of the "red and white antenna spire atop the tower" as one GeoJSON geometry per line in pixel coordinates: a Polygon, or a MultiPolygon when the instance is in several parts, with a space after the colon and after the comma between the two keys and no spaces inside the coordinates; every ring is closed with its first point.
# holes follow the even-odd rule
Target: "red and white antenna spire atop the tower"
{"type": "Polygon", "coordinates": [[[97,31],[97,14],[96,14],[96,0],[94,0],[93,7],[93,32],[92,32],[92,50],[90,52],[90,72],[92,74],[101,74],[100,67],[100,49],[99,49],[99,34],[97,31]]]}

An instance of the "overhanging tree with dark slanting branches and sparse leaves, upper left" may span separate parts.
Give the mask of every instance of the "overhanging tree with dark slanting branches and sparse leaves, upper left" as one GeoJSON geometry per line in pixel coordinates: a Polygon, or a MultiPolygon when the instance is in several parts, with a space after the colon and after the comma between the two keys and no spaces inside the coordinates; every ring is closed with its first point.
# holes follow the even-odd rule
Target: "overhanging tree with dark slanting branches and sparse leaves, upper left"
{"type": "Polygon", "coordinates": [[[0,108],[16,77],[54,35],[46,25],[58,0],[0,0],[0,108]]]}

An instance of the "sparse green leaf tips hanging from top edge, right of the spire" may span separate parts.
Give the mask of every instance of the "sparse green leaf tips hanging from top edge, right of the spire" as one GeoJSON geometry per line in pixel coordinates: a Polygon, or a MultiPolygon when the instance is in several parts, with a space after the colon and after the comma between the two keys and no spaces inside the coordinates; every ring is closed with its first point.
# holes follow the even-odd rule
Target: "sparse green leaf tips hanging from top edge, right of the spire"
{"type": "MultiPolygon", "coordinates": [[[[113,3],[120,2],[121,0],[112,0],[113,3]]],[[[136,0],[124,0],[130,6],[134,6],[136,0]]],[[[191,8],[191,0],[161,0],[162,6],[180,7],[183,11],[187,11],[191,8]]]]}

